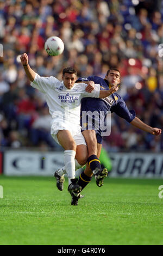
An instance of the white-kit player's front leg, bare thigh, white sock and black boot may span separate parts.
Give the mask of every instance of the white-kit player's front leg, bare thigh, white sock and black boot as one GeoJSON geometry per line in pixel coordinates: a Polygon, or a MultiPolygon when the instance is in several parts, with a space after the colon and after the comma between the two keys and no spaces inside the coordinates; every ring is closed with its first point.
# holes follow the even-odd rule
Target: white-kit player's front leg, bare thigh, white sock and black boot
{"type": "MultiPolygon", "coordinates": [[[[78,193],[80,192],[81,187],[78,184],[76,184],[77,179],[75,179],[76,174],[75,174],[74,158],[76,155],[76,148],[77,148],[76,142],[74,141],[71,135],[71,132],[68,130],[58,131],[57,139],[59,144],[65,149],[64,162],[65,162],[66,173],[68,176],[68,192],[76,191],[78,193]]],[[[58,172],[55,174],[56,179],[57,179],[57,175],[59,175],[58,172]]]]}

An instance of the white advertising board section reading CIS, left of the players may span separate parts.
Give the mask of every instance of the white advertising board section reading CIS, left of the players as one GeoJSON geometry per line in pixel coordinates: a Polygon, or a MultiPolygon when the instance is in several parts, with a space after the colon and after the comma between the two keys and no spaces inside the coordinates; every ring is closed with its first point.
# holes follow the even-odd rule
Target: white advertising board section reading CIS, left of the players
{"type": "Polygon", "coordinates": [[[63,152],[41,153],[36,151],[9,150],[4,153],[5,175],[53,175],[64,166],[63,152]]]}

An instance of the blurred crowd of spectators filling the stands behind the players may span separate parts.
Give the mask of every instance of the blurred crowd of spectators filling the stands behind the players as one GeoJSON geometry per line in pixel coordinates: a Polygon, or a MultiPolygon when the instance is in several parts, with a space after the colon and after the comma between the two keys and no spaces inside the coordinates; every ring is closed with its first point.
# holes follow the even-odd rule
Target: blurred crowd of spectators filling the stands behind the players
{"type": "MultiPolygon", "coordinates": [[[[24,52],[39,75],[59,80],[66,66],[81,77],[103,78],[111,66],[118,68],[118,93],[128,108],[148,125],[163,127],[161,0],[1,0],[0,43],[1,147],[59,147],[49,133],[45,97],[30,86],[20,63],[24,52]],[[52,35],[65,44],[57,57],[44,49],[52,35]]],[[[116,114],[111,126],[111,135],[104,138],[108,151],[163,150],[163,135],[137,130],[116,114]]]]}

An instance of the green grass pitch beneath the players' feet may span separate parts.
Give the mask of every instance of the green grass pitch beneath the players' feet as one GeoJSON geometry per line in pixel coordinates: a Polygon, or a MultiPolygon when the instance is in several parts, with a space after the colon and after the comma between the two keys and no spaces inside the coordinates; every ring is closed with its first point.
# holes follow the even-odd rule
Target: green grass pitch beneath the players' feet
{"type": "Polygon", "coordinates": [[[78,206],[51,177],[0,176],[1,245],[162,245],[163,180],[106,178],[78,206]]]}

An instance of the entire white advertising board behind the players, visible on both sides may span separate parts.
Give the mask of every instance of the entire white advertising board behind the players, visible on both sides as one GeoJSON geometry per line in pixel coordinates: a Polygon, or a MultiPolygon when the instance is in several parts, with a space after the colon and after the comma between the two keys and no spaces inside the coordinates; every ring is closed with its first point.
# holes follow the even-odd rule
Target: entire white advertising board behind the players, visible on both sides
{"type": "MultiPolygon", "coordinates": [[[[163,154],[110,153],[112,171],[110,177],[163,179],[163,154]]],[[[64,152],[7,150],[4,153],[5,175],[51,176],[64,166],[64,152]]],[[[77,176],[78,176],[77,172],[77,176]]]]}

